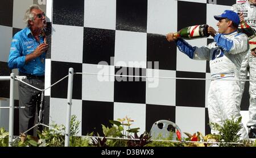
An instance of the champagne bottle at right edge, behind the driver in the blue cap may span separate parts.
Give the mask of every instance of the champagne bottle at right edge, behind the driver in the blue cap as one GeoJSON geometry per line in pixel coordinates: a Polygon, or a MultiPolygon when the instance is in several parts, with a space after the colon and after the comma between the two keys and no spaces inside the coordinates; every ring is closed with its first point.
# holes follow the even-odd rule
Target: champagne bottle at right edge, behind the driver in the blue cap
{"type": "Polygon", "coordinates": [[[254,51],[256,49],[256,33],[245,21],[240,23],[241,32],[246,34],[249,40],[250,50],[254,51]]]}

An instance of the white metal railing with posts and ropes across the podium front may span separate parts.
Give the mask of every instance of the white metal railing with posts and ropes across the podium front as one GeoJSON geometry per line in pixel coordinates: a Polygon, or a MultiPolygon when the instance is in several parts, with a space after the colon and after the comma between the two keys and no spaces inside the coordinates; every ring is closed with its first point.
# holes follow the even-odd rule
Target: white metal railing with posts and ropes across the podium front
{"type": "MultiPolygon", "coordinates": [[[[104,76],[119,76],[119,77],[140,77],[140,78],[166,78],[166,79],[171,79],[171,80],[218,80],[218,79],[207,79],[207,78],[181,78],[181,77],[150,77],[150,76],[129,76],[129,75],[118,75],[118,74],[97,74],[97,73],[81,73],[81,72],[77,72],[74,73],[73,72],[73,68],[69,68],[68,70],[68,75],[61,78],[59,81],[55,82],[54,84],[52,84],[51,86],[49,86],[46,89],[39,89],[36,88],[35,86],[32,86],[30,84],[27,84],[26,82],[22,81],[23,79],[26,78],[26,76],[15,76],[14,73],[11,73],[10,76],[0,76],[0,81],[9,81],[10,80],[10,106],[9,107],[0,107],[1,109],[10,109],[9,113],[9,147],[11,146],[11,143],[14,142],[17,138],[13,139],[13,124],[14,124],[14,108],[24,108],[24,107],[14,107],[14,80],[18,80],[19,82],[22,82],[23,84],[26,84],[28,86],[30,86],[31,88],[37,89],[39,91],[43,92],[49,88],[51,88],[52,86],[56,85],[57,83],[59,83],[60,81],[64,80],[64,78],[68,77],[68,92],[67,92],[67,114],[66,114],[66,128],[65,128],[65,147],[69,146],[69,136],[70,136],[70,121],[71,121],[71,106],[72,106],[72,89],[73,89],[73,75],[74,74],[90,74],[90,75],[104,75],[104,76]]],[[[256,80],[218,80],[218,81],[256,81],[256,80]]],[[[40,120],[40,119],[39,119],[40,120]]],[[[48,128],[52,128],[47,126],[46,124],[43,123],[39,123],[35,124],[35,126],[31,127],[30,129],[28,129],[27,131],[23,132],[23,134],[25,134],[26,132],[30,131],[32,128],[39,126],[39,125],[43,125],[46,126],[48,128]]],[[[56,130],[53,128],[53,130],[56,130]]],[[[58,131],[58,130],[56,130],[58,131]]],[[[62,131],[58,131],[60,133],[63,133],[62,131]]],[[[120,138],[119,138],[120,139],[120,138]]],[[[216,143],[220,143],[220,142],[216,142],[216,143]]]]}

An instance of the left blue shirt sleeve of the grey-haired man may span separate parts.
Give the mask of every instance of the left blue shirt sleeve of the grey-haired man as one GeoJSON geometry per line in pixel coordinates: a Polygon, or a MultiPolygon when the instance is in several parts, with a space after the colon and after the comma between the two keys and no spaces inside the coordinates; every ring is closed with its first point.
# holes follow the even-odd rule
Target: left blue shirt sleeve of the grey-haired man
{"type": "Polygon", "coordinates": [[[24,56],[22,51],[22,45],[19,38],[13,38],[11,41],[11,48],[8,60],[8,66],[10,69],[22,68],[25,65],[26,55],[24,56]]]}

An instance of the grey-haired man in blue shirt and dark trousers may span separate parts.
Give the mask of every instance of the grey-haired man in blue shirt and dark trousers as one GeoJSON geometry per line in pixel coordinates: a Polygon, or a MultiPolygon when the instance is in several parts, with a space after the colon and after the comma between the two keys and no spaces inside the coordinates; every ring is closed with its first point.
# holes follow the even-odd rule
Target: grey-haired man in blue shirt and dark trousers
{"type": "MultiPolygon", "coordinates": [[[[30,85],[44,89],[44,69],[48,44],[42,30],[46,27],[46,16],[38,5],[28,7],[24,22],[27,27],[17,32],[11,42],[8,66],[18,68],[20,76],[30,85]]],[[[25,106],[19,111],[19,132],[23,133],[34,126],[36,106],[41,102],[41,92],[19,82],[19,106],[25,106]]],[[[38,108],[39,111],[39,108],[38,108]]],[[[28,132],[33,135],[33,131],[28,132]]]]}

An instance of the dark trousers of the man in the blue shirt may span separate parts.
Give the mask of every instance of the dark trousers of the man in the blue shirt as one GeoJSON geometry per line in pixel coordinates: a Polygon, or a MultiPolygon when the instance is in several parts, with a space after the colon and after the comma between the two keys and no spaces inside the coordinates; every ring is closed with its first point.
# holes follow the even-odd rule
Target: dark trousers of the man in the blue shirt
{"type": "MultiPolygon", "coordinates": [[[[44,89],[44,76],[36,77],[23,73],[19,73],[19,75],[27,76],[27,79],[23,80],[24,82],[35,86],[36,88],[44,89]]],[[[36,90],[26,84],[23,84],[22,82],[19,82],[19,106],[25,107],[23,109],[19,109],[19,133],[23,133],[32,126],[34,126],[36,107],[38,109],[39,115],[41,94],[42,92],[40,92],[39,90],[36,90]]],[[[44,113],[44,101],[42,110],[44,113]]],[[[41,123],[43,123],[43,115],[41,123]]],[[[39,127],[39,130],[42,131],[42,127],[39,127]]],[[[33,135],[33,133],[34,130],[30,130],[27,132],[28,135],[33,135]]]]}

